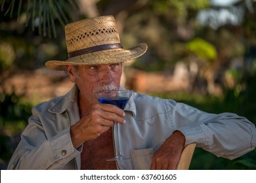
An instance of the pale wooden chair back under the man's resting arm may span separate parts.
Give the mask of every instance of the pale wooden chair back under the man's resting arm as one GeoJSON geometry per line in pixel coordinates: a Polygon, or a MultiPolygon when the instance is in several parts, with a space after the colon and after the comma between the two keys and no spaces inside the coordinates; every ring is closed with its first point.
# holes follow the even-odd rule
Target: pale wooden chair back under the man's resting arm
{"type": "Polygon", "coordinates": [[[181,154],[181,159],[177,166],[177,170],[188,170],[195,148],[196,148],[196,143],[189,144],[184,148],[181,154]]]}

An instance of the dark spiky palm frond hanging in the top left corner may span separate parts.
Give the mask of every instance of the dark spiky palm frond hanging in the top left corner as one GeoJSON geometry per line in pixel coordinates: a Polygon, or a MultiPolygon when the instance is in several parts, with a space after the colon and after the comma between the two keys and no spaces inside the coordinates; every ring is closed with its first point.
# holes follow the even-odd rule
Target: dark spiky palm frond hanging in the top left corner
{"type": "Polygon", "coordinates": [[[56,37],[56,22],[58,20],[62,26],[72,21],[73,10],[77,10],[78,6],[75,0],[3,0],[1,3],[1,11],[10,17],[17,17],[26,13],[26,27],[32,26],[32,30],[38,29],[39,35],[56,37]],[[6,9],[6,10],[5,10],[6,9]]]}

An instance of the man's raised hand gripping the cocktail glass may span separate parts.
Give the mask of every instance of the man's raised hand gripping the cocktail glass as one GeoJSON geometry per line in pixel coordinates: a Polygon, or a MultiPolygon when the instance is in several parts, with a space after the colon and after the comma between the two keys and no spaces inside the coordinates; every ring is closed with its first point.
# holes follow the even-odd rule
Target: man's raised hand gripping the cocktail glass
{"type": "Polygon", "coordinates": [[[70,127],[74,148],[79,148],[85,141],[99,137],[113,126],[113,122],[125,124],[125,112],[115,105],[96,104],[82,116],[81,120],[70,127]]]}

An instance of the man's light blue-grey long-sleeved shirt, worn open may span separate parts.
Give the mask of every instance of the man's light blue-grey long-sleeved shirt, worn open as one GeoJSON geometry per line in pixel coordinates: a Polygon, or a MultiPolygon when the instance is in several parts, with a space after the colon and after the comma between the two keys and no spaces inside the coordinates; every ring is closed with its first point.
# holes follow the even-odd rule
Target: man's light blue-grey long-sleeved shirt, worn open
{"type": "MultiPolygon", "coordinates": [[[[82,147],[75,149],[70,126],[79,121],[77,86],[62,97],[35,106],[8,169],[80,169],[82,147]]],[[[173,131],[185,145],[196,143],[216,156],[234,159],[256,146],[255,125],[232,113],[210,114],[171,99],[133,93],[119,125],[119,146],[128,160],[119,169],[150,169],[152,154],[173,131]]]]}

